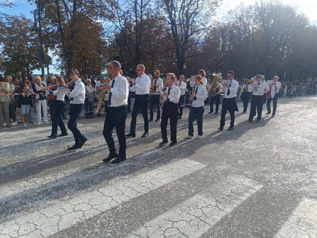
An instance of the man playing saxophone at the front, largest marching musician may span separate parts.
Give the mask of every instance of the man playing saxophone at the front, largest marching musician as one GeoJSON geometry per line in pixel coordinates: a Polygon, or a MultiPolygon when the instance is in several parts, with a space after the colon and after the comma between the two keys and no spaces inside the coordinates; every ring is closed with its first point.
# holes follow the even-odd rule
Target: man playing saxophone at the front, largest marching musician
{"type": "Polygon", "coordinates": [[[104,89],[108,90],[105,95],[108,106],[105,123],[103,125],[102,134],[105,137],[109,148],[109,155],[103,159],[103,162],[108,162],[112,159],[112,163],[119,163],[126,160],[126,117],[128,115],[128,96],[129,83],[125,77],[120,74],[121,64],[118,61],[111,61],[108,70],[113,78],[109,84],[105,84],[104,89]],[[113,128],[116,129],[119,141],[119,153],[113,140],[113,128]]]}

